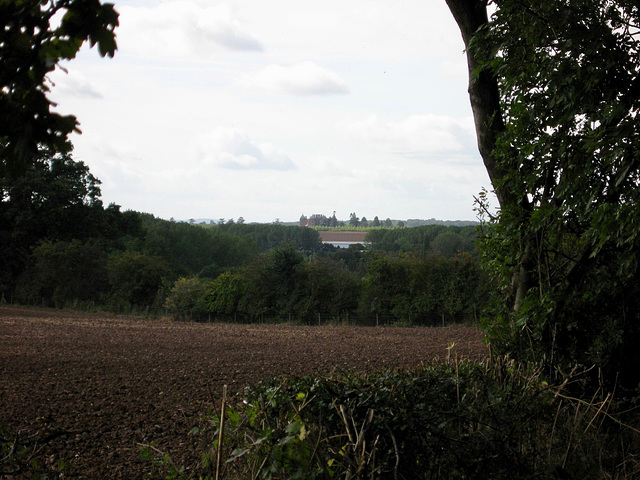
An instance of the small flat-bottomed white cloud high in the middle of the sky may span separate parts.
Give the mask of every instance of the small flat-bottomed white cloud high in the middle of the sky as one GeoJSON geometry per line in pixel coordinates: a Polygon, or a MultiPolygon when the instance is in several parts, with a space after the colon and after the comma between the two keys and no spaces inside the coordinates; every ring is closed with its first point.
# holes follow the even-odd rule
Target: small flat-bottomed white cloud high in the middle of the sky
{"type": "Polygon", "coordinates": [[[240,87],[268,94],[330,95],[349,92],[338,74],[314,62],[269,65],[239,82],[240,87]]]}

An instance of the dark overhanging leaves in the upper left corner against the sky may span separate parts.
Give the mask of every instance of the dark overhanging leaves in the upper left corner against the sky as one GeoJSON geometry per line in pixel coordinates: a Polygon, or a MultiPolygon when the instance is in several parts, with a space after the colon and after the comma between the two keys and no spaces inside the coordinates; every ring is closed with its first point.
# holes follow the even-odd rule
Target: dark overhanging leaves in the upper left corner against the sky
{"type": "Polygon", "coordinates": [[[118,13],[99,0],[1,0],[0,19],[0,170],[17,177],[40,146],[70,150],[67,136],[78,122],[51,112],[47,75],[86,41],[112,57],[118,13]]]}

